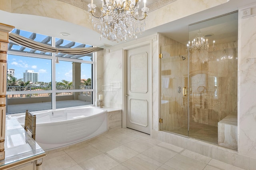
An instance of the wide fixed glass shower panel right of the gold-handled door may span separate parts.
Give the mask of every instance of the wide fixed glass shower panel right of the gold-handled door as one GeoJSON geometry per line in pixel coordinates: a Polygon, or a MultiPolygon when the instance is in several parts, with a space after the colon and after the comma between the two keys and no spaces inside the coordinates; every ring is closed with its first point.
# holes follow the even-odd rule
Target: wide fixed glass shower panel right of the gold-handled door
{"type": "Polygon", "coordinates": [[[189,26],[189,137],[237,150],[238,12],[189,26]]]}

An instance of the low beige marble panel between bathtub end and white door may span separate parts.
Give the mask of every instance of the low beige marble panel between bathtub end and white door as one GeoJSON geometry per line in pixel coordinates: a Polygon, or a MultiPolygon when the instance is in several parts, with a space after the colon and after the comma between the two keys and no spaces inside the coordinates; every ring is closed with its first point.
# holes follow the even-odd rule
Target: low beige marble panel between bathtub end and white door
{"type": "Polygon", "coordinates": [[[122,110],[108,112],[108,130],[122,127],[122,110]]]}

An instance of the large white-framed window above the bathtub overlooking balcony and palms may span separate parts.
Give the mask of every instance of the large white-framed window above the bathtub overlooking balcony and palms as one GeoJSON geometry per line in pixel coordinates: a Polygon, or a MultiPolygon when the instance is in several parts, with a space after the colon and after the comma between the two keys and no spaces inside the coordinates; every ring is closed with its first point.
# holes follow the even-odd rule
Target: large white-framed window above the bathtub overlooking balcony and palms
{"type": "MultiPolygon", "coordinates": [[[[58,48],[91,47],[22,30],[13,32],[58,48]]],[[[92,53],[45,53],[10,43],[7,67],[7,114],[94,104],[92,53]],[[58,64],[55,64],[55,55],[58,64]]]]}

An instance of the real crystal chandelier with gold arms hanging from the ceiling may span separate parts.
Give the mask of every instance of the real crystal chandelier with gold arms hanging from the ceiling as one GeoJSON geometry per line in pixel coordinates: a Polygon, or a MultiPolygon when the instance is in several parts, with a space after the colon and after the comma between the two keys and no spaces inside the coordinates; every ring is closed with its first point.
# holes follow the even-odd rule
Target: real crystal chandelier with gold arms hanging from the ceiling
{"type": "MultiPolygon", "coordinates": [[[[139,18],[139,3],[140,0],[101,0],[102,8],[100,16],[96,16],[96,5],[88,4],[88,11],[92,16],[98,18],[92,23],[94,30],[100,33],[100,40],[102,36],[111,41],[126,41],[130,38],[137,38],[138,33],[145,30],[145,18],[147,16],[148,8],[146,7],[146,0],[144,0],[144,13],[142,18],[139,18]],[[144,20],[144,22],[142,22],[144,20]]],[[[90,15],[91,18],[91,15],[90,15]]]]}

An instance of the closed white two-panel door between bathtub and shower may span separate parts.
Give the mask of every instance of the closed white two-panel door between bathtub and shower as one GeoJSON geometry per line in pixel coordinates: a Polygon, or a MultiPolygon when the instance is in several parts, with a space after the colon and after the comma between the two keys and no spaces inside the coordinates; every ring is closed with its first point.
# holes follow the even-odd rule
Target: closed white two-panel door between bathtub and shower
{"type": "Polygon", "coordinates": [[[127,51],[127,111],[128,128],[150,134],[150,46],[127,51]]]}

